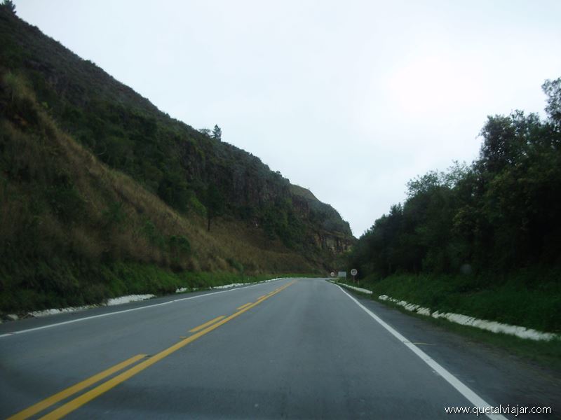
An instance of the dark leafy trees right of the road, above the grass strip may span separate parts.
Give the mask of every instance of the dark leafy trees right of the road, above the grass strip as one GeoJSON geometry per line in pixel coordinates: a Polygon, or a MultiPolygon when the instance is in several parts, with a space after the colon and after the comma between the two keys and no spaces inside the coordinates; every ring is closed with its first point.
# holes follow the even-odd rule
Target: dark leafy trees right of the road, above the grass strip
{"type": "Polygon", "coordinates": [[[479,158],[407,183],[403,205],[360,237],[349,265],[374,278],[561,265],[561,78],[542,88],[546,120],[489,116],[479,158]]]}

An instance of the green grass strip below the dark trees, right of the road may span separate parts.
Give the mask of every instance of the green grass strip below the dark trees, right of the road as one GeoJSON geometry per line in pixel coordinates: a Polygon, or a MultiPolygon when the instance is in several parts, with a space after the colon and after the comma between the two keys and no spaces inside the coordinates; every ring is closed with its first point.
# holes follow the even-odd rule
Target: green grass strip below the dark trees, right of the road
{"type": "Polygon", "coordinates": [[[561,333],[561,269],[521,269],[508,275],[394,274],[367,278],[374,295],[476,318],[561,333]]]}

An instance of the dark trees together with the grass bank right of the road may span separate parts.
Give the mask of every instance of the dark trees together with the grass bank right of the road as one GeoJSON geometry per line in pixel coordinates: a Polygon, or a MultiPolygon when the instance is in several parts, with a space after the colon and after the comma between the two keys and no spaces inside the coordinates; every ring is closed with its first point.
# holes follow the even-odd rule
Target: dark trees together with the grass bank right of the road
{"type": "Polygon", "coordinates": [[[407,184],[347,255],[363,284],[432,309],[561,332],[561,78],[547,118],[489,116],[471,165],[407,184]]]}

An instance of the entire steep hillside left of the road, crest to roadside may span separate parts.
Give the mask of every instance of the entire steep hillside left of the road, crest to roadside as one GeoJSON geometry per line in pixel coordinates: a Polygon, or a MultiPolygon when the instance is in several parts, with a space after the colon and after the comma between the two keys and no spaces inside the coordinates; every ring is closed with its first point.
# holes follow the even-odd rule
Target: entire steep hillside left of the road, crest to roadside
{"type": "Polygon", "coordinates": [[[331,265],[337,211],[221,137],[0,6],[0,313],[331,265]]]}

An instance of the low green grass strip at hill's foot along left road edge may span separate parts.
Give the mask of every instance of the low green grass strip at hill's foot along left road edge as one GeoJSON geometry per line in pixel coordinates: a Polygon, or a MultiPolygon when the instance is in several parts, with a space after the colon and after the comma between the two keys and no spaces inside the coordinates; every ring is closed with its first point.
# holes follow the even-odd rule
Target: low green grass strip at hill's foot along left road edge
{"type": "Polygon", "coordinates": [[[44,260],[18,265],[16,273],[0,266],[0,315],[40,309],[101,304],[111,297],[135,294],[169,295],[177,288],[204,289],[231,283],[253,283],[276,277],[310,274],[174,272],[139,262],[94,263],[44,260]],[[13,279],[15,287],[11,287],[13,279]]]}

